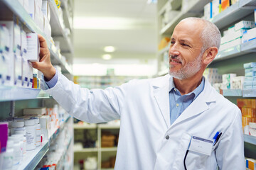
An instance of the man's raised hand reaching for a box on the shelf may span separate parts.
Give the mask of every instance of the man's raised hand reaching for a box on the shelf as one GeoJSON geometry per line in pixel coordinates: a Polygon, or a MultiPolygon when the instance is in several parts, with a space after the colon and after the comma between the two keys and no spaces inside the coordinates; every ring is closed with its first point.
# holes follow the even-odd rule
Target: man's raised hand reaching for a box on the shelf
{"type": "Polygon", "coordinates": [[[38,39],[40,42],[40,61],[32,62],[32,67],[41,71],[46,79],[49,81],[55,75],[55,68],[50,62],[50,51],[48,50],[46,39],[42,35],[38,34],[38,39]]]}

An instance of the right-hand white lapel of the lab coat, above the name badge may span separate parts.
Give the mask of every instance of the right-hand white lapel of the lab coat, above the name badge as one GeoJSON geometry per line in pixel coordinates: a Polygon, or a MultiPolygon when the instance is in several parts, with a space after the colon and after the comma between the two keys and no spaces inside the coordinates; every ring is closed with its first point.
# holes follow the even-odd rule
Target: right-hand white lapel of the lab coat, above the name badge
{"type": "Polygon", "coordinates": [[[188,108],[186,108],[183,113],[181,113],[181,115],[174,121],[171,126],[174,126],[183,120],[187,120],[195,115],[207,111],[209,109],[208,104],[216,101],[216,96],[213,90],[214,89],[210,86],[210,83],[206,80],[204,89],[201,94],[199,94],[195,101],[193,101],[191,105],[188,106],[188,108]]]}

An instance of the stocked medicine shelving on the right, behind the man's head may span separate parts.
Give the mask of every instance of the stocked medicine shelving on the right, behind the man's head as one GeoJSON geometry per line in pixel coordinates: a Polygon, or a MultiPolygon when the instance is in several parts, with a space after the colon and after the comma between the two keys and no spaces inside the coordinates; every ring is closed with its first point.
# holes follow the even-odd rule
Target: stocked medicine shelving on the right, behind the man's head
{"type": "MultiPolygon", "coordinates": [[[[242,112],[245,159],[249,169],[256,162],[255,94],[255,0],[176,1],[162,0],[159,10],[159,75],[168,71],[170,36],[176,23],[188,16],[206,18],[215,23],[222,35],[218,55],[204,72],[220,94],[235,103],[242,112]]],[[[253,166],[253,167],[252,167],[253,166]]]]}

